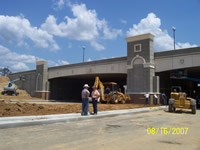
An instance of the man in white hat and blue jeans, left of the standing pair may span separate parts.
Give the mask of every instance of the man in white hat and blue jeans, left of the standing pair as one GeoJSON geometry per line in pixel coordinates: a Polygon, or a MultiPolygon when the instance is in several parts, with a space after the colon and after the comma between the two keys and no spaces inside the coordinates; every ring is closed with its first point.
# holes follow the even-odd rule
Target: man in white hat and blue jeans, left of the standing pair
{"type": "Polygon", "coordinates": [[[82,113],[81,115],[82,116],[87,116],[88,115],[88,108],[89,108],[89,95],[90,95],[90,92],[88,91],[88,84],[85,84],[83,86],[83,90],[81,92],[81,98],[82,98],[82,113]]]}

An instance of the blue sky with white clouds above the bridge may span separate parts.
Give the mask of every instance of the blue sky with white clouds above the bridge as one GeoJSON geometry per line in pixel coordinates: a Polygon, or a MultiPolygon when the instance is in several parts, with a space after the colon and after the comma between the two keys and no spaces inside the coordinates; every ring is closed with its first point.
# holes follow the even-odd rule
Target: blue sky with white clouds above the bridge
{"type": "Polygon", "coordinates": [[[154,51],[200,45],[200,0],[1,0],[0,68],[35,69],[126,56],[124,38],[154,34],[154,51]]]}

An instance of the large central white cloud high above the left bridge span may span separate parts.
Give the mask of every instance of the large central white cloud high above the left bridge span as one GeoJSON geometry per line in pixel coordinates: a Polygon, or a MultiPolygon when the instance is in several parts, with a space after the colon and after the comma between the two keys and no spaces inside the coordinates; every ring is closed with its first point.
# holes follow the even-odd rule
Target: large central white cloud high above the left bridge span
{"type": "Polygon", "coordinates": [[[98,40],[115,39],[122,34],[119,29],[110,29],[106,20],[98,19],[96,11],[88,10],[85,4],[69,3],[68,6],[72,10],[73,18],[66,16],[64,21],[57,24],[56,18],[49,15],[41,29],[55,36],[88,41],[97,50],[104,49],[98,40]]]}

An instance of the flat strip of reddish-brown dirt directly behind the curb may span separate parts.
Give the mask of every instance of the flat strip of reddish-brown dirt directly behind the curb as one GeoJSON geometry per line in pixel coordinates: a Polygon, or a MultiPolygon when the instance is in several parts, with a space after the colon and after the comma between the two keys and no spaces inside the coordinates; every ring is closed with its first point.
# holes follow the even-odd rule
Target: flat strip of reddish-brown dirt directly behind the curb
{"type": "MultiPolygon", "coordinates": [[[[143,104],[98,104],[98,111],[149,107],[143,104]]],[[[81,104],[35,104],[0,102],[0,117],[81,113],[81,104]]],[[[93,111],[92,104],[89,112],[93,111]]]]}

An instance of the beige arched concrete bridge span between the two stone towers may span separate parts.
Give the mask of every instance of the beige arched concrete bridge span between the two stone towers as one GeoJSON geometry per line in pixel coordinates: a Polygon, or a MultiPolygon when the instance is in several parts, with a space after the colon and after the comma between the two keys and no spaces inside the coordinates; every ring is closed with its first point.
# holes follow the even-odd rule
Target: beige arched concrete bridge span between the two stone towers
{"type": "Polygon", "coordinates": [[[127,73],[126,57],[105,59],[79,64],[64,65],[49,68],[48,78],[59,78],[87,74],[127,73]]]}

